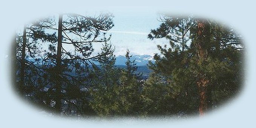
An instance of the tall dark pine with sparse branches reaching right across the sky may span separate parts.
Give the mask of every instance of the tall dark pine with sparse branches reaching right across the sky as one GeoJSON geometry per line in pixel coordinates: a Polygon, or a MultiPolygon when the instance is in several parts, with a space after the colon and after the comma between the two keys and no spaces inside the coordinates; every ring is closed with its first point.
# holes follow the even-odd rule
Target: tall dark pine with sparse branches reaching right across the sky
{"type": "MultiPolygon", "coordinates": [[[[65,93],[71,88],[77,88],[78,93],[81,85],[81,80],[85,79],[88,72],[88,66],[92,60],[98,60],[102,55],[91,56],[94,51],[93,42],[107,42],[111,36],[105,32],[113,27],[113,16],[111,14],[101,14],[98,17],[86,17],[78,14],[60,14],[58,17],[58,43],[49,46],[50,52],[46,52],[44,62],[46,68],[54,70],[55,81],[53,86],[55,92],[55,109],[57,112],[62,112],[63,102],[68,102],[69,105],[77,107],[76,99],[70,99],[65,96],[65,93]],[[74,49],[68,50],[67,46],[72,45],[74,49]],[[66,48],[64,48],[64,46],[66,48]],[[57,47],[57,51],[55,50],[57,47]],[[49,63],[50,62],[50,63],[49,63]],[[52,67],[52,63],[55,65],[52,67]],[[75,68],[75,75],[71,75],[75,68]],[[72,87],[71,87],[72,86],[72,87]],[[69,88],[69,89],[68,89],[69,88]]],[[[109,54],[109,53],[106,53],[109,54]]],[[[70,106],[69,106],[70,107],[70,106]]]]}

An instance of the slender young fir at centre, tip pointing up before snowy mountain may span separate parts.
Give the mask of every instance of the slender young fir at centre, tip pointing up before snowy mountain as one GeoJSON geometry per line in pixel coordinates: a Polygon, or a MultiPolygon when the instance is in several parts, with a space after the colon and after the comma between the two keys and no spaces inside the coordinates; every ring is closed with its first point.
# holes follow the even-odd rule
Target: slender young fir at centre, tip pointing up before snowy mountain
{"type": "Polygon", "coordinates": [[[142,109],[142,79],[136,74],[137,66],[135,60],[131,60],[130,51],[126,51],[126,69],[121,71],[120,86],[120,109],[125,116],[138,116],[142,109]]]}

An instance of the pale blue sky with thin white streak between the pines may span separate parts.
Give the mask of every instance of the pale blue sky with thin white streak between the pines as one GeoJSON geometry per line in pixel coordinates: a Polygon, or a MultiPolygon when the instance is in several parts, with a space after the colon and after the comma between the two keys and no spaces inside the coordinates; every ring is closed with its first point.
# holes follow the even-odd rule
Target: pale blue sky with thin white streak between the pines
{"type": "MultiPolygon", "coordinates": [[[[126,54],[129,48],[131,54],[158,53],[156,45],[167,44],[166,39],[147,38],[151,29],[156,29],[160,22],[156,12],[112,12],[115,26],[109,31],[112,34],[110,42],[115,46],[116,55],[126,54]]],[[[94,44],[95,51],[100,49],[100,44],[94,44]]]]}

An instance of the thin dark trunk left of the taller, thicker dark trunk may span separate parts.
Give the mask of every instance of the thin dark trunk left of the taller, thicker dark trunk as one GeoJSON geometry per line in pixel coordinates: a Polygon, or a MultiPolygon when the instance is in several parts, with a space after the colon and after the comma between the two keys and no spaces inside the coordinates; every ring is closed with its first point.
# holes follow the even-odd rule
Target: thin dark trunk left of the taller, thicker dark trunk
{"type": "Polygon", "coordinates": [[[20,60],[20,84],[18,85],[18,90],[21,94],[23,94],[23,88],[25,86],[25,57],[26,57],[26,25],[23,28],[23,42],[22,42],[22,49],[21,49],[21,60],[20,60]]]}

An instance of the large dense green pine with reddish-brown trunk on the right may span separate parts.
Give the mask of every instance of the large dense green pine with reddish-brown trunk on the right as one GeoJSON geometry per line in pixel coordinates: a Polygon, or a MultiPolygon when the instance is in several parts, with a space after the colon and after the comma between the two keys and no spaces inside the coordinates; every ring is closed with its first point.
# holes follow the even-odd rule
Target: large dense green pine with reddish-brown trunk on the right
{"type": "MultiPolygon", "coordinates": [[[[170,16],[167,16],[170,17],[170,16]]],[[[175,17],[174,17],[175,18],[175,17]]],[[[170,19],[174,19],[170,17],[170,19]]],[[[241,87],[242,71],[238,70],[235,65],[242,63],[242,41],[241,36],[234,32],[232,28],[224,27],[214,21],[189,18],[191,27],[189,27],[190,47],[181,50],[181,47],[173,47],[174,39],[166,34],[166,30],[171,30],[175,26],[162,25],[160,29],[152,30],[149,35],[150,39],[167,38],[170,40],[170,48],[167,46],[160,47],[161,55],[155,55],[155,63],[150,63],[150,68],[153,71],[164,77],[164,81],[171,85],[172,95],[177,98],[177,101],[188,101],[184,104],[189,110],[188,113],[195,111],[196,104],[200,115],[202,116],[205,110],[211,108],[213,104],[218,104],[216,99],[218,95],[223,95],[224,92],[219,86],[224,88],[232,88],[235,84],[236,89],[230,90],[227,97],[233,96],[241,87]],[[224,34],[225,33],[225,34],[224,34]],[[172,42],[173,41],[173,42],[172,42]],[[234,57],[236,55],[237,57],[234,57]],[[236,58],[236,59],[235,59],[236,58]],[[235,73],[236,72],[236,73],[235,73]],[[235,74],[240,74],[236,77],[235,74]],[[224,80],[223,74],[226,74],[224,80]],[[224,84],[228,81],[228,84],[224,84]],[[224,83],[222,83],[224,82],[224,83]],[[234,92],[232,92],[234,91],[234,92]],[[218,93],[218,94],[217,94],[218,93]],[[213,95],[214,94],[214,95],[213,95]],[[229,95],[229,96],[228,96],[229,95]],[[213,103],[215,99],[215,103],[213,103]]],[[[175,24],[176,21],[168,20],[163,24],[175,24]]],[[[181,24],[181,23],[177,23],[181,24]]],[[[175,35],[172,31],[167,31],[175,35]]],[[[176,43],[178,43],[176,41],[176,43]]],[[[222,97],[227,99],[227,97],[222,97]]],[[[185,108],[182,107],[182,108],[185,108]]]]}

